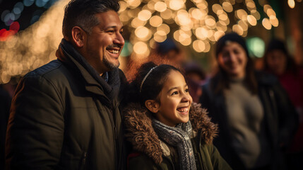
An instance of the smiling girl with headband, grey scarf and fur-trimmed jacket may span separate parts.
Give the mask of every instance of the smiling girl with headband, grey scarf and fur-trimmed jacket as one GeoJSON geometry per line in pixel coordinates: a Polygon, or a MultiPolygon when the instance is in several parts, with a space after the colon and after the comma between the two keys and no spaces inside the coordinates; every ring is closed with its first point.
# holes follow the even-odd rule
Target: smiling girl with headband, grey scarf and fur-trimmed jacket
{"type": "Polygon", "coordinates": [[[212,145],[217,126],[171,65],[143,64],[124,110],[129,169],[230,169],[212,145]]]}

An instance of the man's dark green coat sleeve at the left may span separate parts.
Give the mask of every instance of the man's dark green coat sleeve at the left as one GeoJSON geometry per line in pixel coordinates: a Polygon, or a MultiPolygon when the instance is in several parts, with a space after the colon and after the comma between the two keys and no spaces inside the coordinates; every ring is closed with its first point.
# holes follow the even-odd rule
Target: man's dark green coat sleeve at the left
{"type": "Polygon", "coordinates": [[[42,76],[20,81],[13,97],[6,137],[7,169],[60,169],[64,105],[42,76]]]}

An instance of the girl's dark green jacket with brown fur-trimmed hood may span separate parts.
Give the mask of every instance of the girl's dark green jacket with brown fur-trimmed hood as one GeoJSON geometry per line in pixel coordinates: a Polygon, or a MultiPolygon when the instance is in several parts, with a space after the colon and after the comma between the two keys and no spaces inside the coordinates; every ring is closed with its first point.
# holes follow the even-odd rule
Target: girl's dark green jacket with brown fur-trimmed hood
{"type": "MultiPolygon", "coordinates": [[[[198,131],[196,137],[191,139],[197,169],[231,169],[212,144],[217,127],[210,122],[206,111],[193,103],[189,115],[193,130],[198,131]]],[[[133,145],[133,152],[128,157],[128,169],[178,169],[179,162],[173,154],[177,150],[159,140],[145,108],[130,104],[124,110],[124,118],[126,137],[133,145]]]]}

